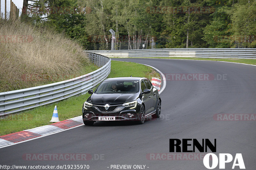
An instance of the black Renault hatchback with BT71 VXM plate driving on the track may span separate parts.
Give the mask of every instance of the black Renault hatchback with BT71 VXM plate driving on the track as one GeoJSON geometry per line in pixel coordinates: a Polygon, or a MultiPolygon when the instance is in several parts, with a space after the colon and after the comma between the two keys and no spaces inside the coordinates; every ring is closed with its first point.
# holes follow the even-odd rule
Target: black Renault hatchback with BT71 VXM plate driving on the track
{"type": "Polygon", "coordinates": [[[147,78],[117,77],[103,81],[82,108],[85,125],[95,121],[137,120],[160,117],[161,98],[147,78]]]}

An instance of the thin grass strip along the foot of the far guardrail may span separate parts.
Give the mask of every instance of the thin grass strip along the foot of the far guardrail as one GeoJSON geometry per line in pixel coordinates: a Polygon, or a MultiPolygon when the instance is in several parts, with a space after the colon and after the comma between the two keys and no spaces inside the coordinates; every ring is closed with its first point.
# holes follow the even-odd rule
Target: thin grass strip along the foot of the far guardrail
{"type": "MultiPolygon", "coordinates": [[[[129,57],[132,58],[132,57],[129,57]]],[[[194,57],[146,57],[149,59],[186,59],[186,60],[211,60],[211,61],[228,61],[234,63],[244,63],[256,65],[256,59],[216,59],[216,58],[194,58],[194,57]]],[[[144,59],[144,58],[143,58],[144,59]]]]}

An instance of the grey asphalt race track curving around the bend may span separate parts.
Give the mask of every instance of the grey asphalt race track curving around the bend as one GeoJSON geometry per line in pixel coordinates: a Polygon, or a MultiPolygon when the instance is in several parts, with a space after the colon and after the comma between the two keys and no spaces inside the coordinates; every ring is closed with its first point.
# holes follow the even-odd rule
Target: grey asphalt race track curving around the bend
{"type": "MultiPolygon", "coordinates": [[[[160,118],[152,118],[142,125],[133,122],[96,122],[91,127],[83,125],[4,147],[0,149],[1,165],[89,165],[91,170],[114,169],[111,165],[132,165],[131,169],[134,169],[134,165],[145,165],[148,170],[204,170],[207,168],[202,159],[190,157],[188,160],[184,157],[186,154],[188,156],[188,152],[182,153],[179,160],[172,160],[173,155],[167,158],[166,154],[174,154],[169,152],[170,138],[198,141],[208,138],[212,143],[216,139],[215,154],[218,157],[219,153],[233,156],[225,169],[232,168],[236,153],[242,153],[246,169],[255,169],[256,121],[251,116],[255,118],[256,114],[256,66],[199,60],[114,60],[151,65],[166,76],[166,88],[160,94],[160,118]],[[204,80],[196,80],[198,74],[203,74],[204,80]],[[194,80],[185,80],[193,75],[194,80]],[[181,79],[182,76],[185,79],[181,79]],[[229,118],[219,120],[215,117],[217,114],[223,117],[226,114],[229,118]],[[239,120],[248,114],[249,120],[239,120]],[[59,160],[48,160],[48,157],[27,160],[29,158],[26,157],[33,154],[73,153],[90,154],[92,159],[63,160],[58,157],[59,160]],[[154,157],[156,153],[162,157],[154,157]],[[158,160],[151,160],[156,158],[158,160]]],[[[198,150],[195,153],[200,154],[198,150]]],[[[219,165],[215,169],[218,168],[219,165]]],[[[239,169],[238,166],[235,169],[239,169]]]]}

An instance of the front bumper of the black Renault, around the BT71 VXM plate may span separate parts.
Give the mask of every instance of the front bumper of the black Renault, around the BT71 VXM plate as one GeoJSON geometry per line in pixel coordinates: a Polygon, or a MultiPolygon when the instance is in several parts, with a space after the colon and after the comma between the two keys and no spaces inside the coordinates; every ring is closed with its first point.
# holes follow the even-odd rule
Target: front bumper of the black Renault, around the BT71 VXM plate
{"type": "Polygon", "coordinates": [[[99,117],[115,117],[115,121],[120,120],[137,120],[140,113],[140,105],[133,109],[124,107],[122,105],[116,106],[113,111],[104,111],[102,106],[93,105],[92,107],[83,108],[83,120],[84,121],[105,121],[99,120],[99,117]],[[101,107],[101,108],[100,108],[101,107]]]}

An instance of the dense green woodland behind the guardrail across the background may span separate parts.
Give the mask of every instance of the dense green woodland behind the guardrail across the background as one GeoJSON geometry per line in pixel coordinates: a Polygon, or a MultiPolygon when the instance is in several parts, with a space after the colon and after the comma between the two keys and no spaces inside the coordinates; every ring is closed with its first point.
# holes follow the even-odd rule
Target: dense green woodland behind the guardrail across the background
{"type": "Polygon", "coordinates": [[[28,21],[91,50],[255,48],[256,0],[36,0],[28,21]],[[148,45],[148,46],[147,46],[148,45]]]}

